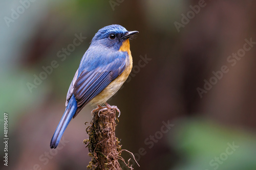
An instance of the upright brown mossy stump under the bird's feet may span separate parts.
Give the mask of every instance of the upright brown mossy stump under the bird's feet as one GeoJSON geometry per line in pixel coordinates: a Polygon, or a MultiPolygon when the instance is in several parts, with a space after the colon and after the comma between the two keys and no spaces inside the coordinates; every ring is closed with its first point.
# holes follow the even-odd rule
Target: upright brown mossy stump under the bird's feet
{"type": "Polygon", "coordinates": [[[92,161],[90,169],[121,169],[121,145],[115,135],[116,113],[114,109],[107,109],[98,114],[94,113],[91,125],[86,129],[89,139],[83,142],[89,148],[92,161]]]}

